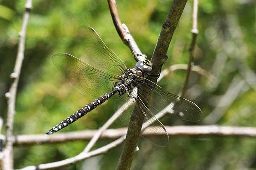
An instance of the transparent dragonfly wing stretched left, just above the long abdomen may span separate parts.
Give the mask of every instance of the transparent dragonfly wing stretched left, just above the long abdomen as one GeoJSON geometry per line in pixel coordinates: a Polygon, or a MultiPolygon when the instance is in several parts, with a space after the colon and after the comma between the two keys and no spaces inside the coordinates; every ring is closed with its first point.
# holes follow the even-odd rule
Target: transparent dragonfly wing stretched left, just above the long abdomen
{"type": "Polygon", "coordinates": [[[95,97],[110,92],[119,81],[117,75],[96,69],[70,54],[55,54],[52,62],[76,88],[95,97]]]}

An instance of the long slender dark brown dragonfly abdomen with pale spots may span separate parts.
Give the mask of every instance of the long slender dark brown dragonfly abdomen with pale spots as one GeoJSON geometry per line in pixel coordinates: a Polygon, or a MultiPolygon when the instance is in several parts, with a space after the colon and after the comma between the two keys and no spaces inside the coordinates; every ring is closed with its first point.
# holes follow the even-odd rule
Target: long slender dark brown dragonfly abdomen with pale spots
{"type": "Polygon", "coordinates": [[[66,118],[65,120],[61,121],[61,123],[56,124],[55,127],[52,127],[52,129],[50,129],[46,134],[47,135],[51,135],[52,133],[55,133],[55,132],[63,129],[64,127],[67,127],[69,124],[72,124],[74,121],[76,121],[79,118],[81,118],[84,115],[86,115],[87,112],[92,111],[94,108],[96,108],[97,106],[99,106],[102,103],[104,103],[105,101],[107,101],[109,98],[111,98],[111,96],[116,94],[116,92],[119,92],[119,94],[122,93],[123,89],[124,89],[124,85],[123,84],[117,85],[116,88],[113,91],[111,91],[109,93],[106,93],[105,95],[102,95],[101,97],[96,98],[94,101],[92,101],[89,104],[85,105],[83,108],[79,109],[74,114],[70,115],[68,118],[66,118]]]}

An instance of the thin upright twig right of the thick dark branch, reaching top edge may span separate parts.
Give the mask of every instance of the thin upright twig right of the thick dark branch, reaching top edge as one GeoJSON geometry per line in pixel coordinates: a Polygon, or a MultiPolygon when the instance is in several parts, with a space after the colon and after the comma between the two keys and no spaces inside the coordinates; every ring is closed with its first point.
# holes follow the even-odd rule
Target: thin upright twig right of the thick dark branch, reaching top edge
{"type": "Polygon", "coordinates": [[[184,86],[183,86],[183,90],[182,90],[182,94],[181,97],[183,98],[189,83],[189,76],[190,76],[190,72],[191,72],[191,66],[192,66],[192,62],[194,59],[193,53],[195,50],[195,41],[196,41],[196,37],[198,35],[198,0],[194,0],[193,1],[193,17],[192,17],[192,39],[191,39],[191,43],[190,43],[190,47],[189,47],[189,63],[188,63],[188,69],[186,72],[186,79],[184,82],[184,86]]]}

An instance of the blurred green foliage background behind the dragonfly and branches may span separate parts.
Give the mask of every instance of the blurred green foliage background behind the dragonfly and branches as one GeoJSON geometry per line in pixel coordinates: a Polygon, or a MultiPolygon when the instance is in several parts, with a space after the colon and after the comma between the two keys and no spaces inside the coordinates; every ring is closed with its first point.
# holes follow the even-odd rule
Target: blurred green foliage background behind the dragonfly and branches
{"type": "MultiPolygon", "coordinates": [[[[0,116],[4,120],[4,94],[11,84],[9,75],[15,63],[25,3],[26,0],[0,0],[0,116]]],[[[151,58],[171,3],[171,0],[117,1],[121,21],[128,26],[148,58],[151,58]]],[[[211,76],[192,72],[185,97],[198,104],[204,119],[191,123],[165,117],[161,120],[164,125],[256,125],[255,5],[254,0],[200,0],[194,64],[207,70],[211,76]]],[[[45,133],[94,99],[65,80],[51,61],[51,56],[58,52],[67,52],[78,58],[83,54],[76,38],[76,29],[81,25],[93,27],[128,67],[135,65],[131,52],[114,28],[106,0],[33,0],[17,93],[14,135],[45,133]]],[[[192,0],[189,0],[162,70],[188,62],[191,28],[192,0]]],[[[177,95],[185,77],[185,70],[170,72],[158,84],[177,95]]],[[[98,129],[114,113],[114,101],[111,98],[61,131],[98,129]]],[[[121,126],[117,120],[111,128],[121,126]]],[[[110,142],[100,140],[95,148],[110,142]]],[[[75,156],[87,143],[73,141],[15,147],[15,168],[75,156]]],[[[254,138],[170,136],[166,148],[156,147],[143,139],[138,146],[140,150],[134,158],[134,170],[256,169],[254,138]]],[[[122,146],[119,146],[104,155],[61,169],[113,170],[121,150],[122,146]]]]}

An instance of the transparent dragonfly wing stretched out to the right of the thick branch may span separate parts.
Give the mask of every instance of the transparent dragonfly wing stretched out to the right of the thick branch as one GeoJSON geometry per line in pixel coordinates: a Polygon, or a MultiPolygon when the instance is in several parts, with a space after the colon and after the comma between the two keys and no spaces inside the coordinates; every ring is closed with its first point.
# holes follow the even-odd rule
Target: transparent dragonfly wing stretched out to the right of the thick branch
{"type": "Polygon", "coordinates": [[[169,112],[186,121],[202,120],[201,109],[192,101],[173,95],[147,79],[140,81],[138,86],[140,89],[151,91],[150,100],[146,100],[142,94],[140,96],[154,115],[169,112]]]}

